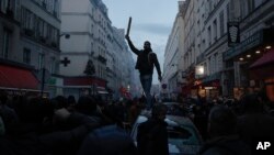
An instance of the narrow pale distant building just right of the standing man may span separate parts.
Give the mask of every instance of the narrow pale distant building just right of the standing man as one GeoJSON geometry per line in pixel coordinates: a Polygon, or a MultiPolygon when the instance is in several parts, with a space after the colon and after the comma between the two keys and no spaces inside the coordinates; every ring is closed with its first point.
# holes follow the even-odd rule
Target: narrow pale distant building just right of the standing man
{"type": "Polygon", "coordinates": [[[173,23],[172,31],[169,35],[168,43],[164,49],[164,63],[163,63],[163,80],[162,85],[167,85],[167,88],[161,88],[161,93],[165,98],[176,96],[181,93],[181,85],[185,81],[182,77],[183,71],[183,42],[184,42],[184,23],[182,16],[182,4],[179,2],[179,13],[176,14],[173,23]]]}

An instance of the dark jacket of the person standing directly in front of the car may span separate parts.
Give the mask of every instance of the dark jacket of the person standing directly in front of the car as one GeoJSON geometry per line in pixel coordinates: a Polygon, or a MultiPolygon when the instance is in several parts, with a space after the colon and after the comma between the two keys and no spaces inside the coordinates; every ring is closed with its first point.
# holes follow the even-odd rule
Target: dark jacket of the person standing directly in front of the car
{"type": "Polygon", "coordinates": [[[168,155],[167,123],[157,119],[149,119],[138,126],[137,147],[139,155],[168,155]]]}

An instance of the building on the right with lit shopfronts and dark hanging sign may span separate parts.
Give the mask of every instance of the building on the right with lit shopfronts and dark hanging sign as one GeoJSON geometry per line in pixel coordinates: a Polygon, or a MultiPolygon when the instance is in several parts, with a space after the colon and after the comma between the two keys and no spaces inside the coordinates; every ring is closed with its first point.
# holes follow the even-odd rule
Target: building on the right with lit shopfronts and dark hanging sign
{"type": "MultiPolygon", "coordinates": [[[[186,79],[182,91],[208,99],[240,98],[263,87],[267,87],[264,88],[267,95],[273,92],[273,75],[267,68],[274,60],[265,65],[263,56],[272,57],[273,1],[186,0],[182,3],[184,29],[180,32],[183,34],[180,60],[183,64],[180,66],[186,79]],[[261,69],[258,62],[262,64],[261,69]],[[265,76],[255,76],[259,70],[265,76]]],[[[175,42],[167,47],[172,44],[175,42]]],[[[172,56],[175,54],[169,57],[172,56]]],[[[165,62],[171,60],[167,57],[165,62]]]]}

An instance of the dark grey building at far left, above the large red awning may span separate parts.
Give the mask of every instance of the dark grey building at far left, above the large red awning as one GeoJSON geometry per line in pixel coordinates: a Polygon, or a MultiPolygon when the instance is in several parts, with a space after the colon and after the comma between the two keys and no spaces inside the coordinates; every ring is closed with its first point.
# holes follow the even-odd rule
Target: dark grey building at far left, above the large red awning
{"type": "MultiPolygon", "coordinates": [[[[30,66],[49,78],[58,73],[60,0],[1,0],[0,46],[2,60],[30,66]]],[[[15,65],[16,66],[16,65],[15,65]]],[[[42,80],[41,76],[37,76],[42,80]]],[[[39,82],[37,88],[52,93],[56,86],[39,82]]],[[[16,87],[16,86],[14,86],[16,87]]]]}

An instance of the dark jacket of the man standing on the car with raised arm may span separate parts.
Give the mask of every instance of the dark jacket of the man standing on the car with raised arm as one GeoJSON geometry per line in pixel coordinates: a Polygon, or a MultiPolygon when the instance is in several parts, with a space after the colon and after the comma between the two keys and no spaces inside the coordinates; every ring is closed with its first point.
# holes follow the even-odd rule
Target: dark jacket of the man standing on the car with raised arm
{"type": "Polygon", "coordinates": [[[157,55],[152,51],[137,49],[133,42],[128,40],[130,49],[137,55],[137,62],[135,68],[139,70],[140,75],[152,75],[153,66],[156,66],[158,76],[161,75],[161,68],[157,58],[157,55]]]}

